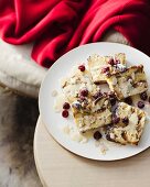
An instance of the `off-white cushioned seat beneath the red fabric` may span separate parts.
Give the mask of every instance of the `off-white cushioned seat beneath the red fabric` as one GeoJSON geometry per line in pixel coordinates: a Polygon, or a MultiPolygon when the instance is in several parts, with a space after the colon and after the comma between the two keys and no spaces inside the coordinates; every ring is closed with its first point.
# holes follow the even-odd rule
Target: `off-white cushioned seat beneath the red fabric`
{"type": "MultiPolygon", "coordinates": [[[[129,44],[116,31],[109,31],[103,41],[129,44]]],[[[0,84],[9,89],[38,98],[46,69],[31,58],[32,44],[14,46],[0,40],[0,84]]]]}

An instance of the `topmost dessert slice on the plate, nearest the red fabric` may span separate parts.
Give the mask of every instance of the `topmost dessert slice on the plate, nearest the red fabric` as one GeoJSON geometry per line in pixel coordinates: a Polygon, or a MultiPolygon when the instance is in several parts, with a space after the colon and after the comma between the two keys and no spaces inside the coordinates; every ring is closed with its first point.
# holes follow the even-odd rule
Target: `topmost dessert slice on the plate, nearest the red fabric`
{"type": "Polygon", "coordinates": [[[124,53],[118,53],[113,56],[92,55],[88,57],[88,67],[95,84],[106,82],[108,72],[116,73],[126,67],[126,56],[124,53]]]}

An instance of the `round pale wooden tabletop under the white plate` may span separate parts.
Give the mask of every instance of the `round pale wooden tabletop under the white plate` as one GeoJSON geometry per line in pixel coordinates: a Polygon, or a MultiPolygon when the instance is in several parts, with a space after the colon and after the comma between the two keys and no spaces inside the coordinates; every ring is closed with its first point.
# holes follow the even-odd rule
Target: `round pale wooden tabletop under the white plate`
{"type": "Polygon", "coordinates": [[[44,187],[149,187],[150,148],[117,162],[79,157],[49,134],[41,118],[34,135],[34,157],[44,187]]]}

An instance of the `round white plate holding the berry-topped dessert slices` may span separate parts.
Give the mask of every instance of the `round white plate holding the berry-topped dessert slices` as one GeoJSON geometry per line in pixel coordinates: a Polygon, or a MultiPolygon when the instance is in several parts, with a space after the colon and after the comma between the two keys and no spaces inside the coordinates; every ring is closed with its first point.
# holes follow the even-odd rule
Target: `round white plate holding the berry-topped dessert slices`
{"type": "Polygon", "coordinates": [[[88,143],[78,143],[72,141],[61,131],[63,124],[73,123],[72,119],[63,119],[61,113],[53,109],[53,90],[60,90],[58,79],[65,77],[75,64],[86,62],[87,57],[94,53],[100,55],[113,55],[115,53],[126,53],[127,61],[132,64],[143,64],[148,82],[150,82],[150,58],[140,51],[117,43],[92,43],[74,48],[58,58],[47,72],[40,89],[39,107],[43,122],[51,135],[65,148],[71,152],[92,160],[115,161],[136,155],[150,146],[150,122],[147,122],[142,139],[138,146],[111,146],[105,155],[100,154],[95,146],[94,140],[88,143]]]}

